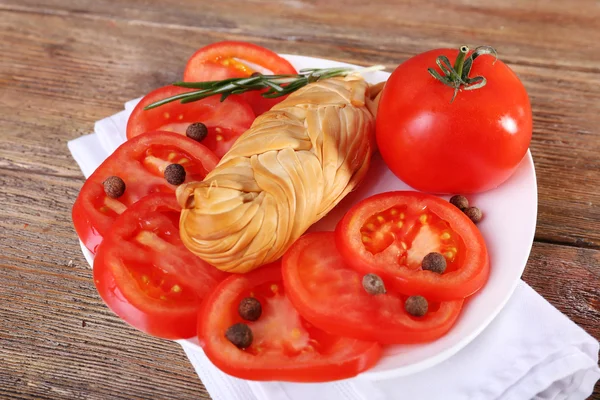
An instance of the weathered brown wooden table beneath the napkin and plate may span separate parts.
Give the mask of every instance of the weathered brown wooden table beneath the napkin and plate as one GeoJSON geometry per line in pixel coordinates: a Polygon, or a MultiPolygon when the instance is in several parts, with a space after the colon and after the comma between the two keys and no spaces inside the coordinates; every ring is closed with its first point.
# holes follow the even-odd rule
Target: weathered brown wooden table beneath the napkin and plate
{"type": "Polygon", "coordinates": [[[595,0],[1,0],[0,398],[209,398],[179,346],[96,294],[66,142],[224,39],[390,70],[432,48],[496,47],[534,114],[524,279],[600,338],[599,20],[595,0]]]}

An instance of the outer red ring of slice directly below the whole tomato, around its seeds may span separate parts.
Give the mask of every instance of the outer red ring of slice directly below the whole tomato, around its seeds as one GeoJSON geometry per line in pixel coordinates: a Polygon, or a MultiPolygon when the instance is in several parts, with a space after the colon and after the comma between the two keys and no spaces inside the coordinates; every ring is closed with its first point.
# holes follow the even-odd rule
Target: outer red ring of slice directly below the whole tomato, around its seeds
{"type": "Polygon", "coordinates": [[[473,222],[449,202],[424,193],[387,192],[364,199],[354,205],[340,220],[335,235],[337,249],[348,265],[364,274],[378,274],[394,290],[409,296],[421,295],[438,301],[464,299],[481,289],[490,274],[485,241],[473,222]],[[442,275],[430,271],[409,271],[405,268],[396,268],[390,260],[378,263],[364,249],[360,235],[360,227],[364,219],[376,210],[392,207],[396,198],[407,196],[418,202],[426,202],[433,212],[447,221],[453,229],[463,232],[462,239],[467,246],[470,246],[468,251],[471,255],[468,264],[461,271],[442,275]]]}

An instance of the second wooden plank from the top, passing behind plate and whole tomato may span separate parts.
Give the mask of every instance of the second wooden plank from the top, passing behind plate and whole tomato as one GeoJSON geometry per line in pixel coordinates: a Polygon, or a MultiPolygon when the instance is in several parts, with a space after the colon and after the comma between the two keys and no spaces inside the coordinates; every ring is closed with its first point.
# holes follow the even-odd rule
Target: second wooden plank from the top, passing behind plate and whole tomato
{"type": "MultiPolygon", "coordinates": [[[[6,133],[0,136],[0,167],[72,178],[80,173],[66,140],[92,131],[95,120],[121,110],[125,101],[177,80],[197,47],[239,38],[219,32],[191,34],[170,25],[148,29],[120,20],[3,15],[0,122],[6,133]],[[44,63],[33,61],[40,59],[44,63]]],[[[397,62],[375,47],[365,53],[326,44],[255,41],[281,52],[354,63],[393,67],[397,62]]],[[[534,111],[536,238],[600,248],[600,207],[594,206],[600,203],[600,74],[563,73],[533,61],[512,67],[525,83],[534,111]]]]}

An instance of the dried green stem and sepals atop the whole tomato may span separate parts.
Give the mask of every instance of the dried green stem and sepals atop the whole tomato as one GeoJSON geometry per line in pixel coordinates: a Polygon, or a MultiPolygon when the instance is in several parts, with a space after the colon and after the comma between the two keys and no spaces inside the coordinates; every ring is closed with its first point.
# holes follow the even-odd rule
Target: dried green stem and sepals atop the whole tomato
{"type": "Polygon", "coordinates": [[[469,57],[469,48],[467,46],[461,46],[454,65],[450,63],[450,60],[446,56],[438,56],[435,63],[442,70],[444,75],[441,75],[438,71],[433,68],[428,68],[427,71],[431,76],[440,81],[446,86],[450,86],[454,89],[454,94],[450,103],[454,101],[456,95],[460,89],[474,90],[482,88],[486,85],[487,80],[483,76],[476,76],[469,78],[469,73],[473,67],[473,61],[482,55],[490,54],[494,55],[498,59],[498,53],[493,47],[490,46],[479,46],[477,47],[469,57]]]}

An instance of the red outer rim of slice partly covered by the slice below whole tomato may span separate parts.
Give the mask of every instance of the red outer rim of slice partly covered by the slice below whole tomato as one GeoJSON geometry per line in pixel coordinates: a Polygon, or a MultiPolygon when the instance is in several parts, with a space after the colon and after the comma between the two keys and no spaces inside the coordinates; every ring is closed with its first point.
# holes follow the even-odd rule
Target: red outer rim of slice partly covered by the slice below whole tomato
{"type": "MultiPolygon", "coordinates": [[[[456,323],[462,309],[462,299],[441,303],[438,311],[423,319],[413,319],[406,316],[403,325],[388,323],[385,318],[376,315],[377,311],[372,312],[373,310],[367,306],[368,302],[384,300],[384,296],[390,295],[389,290],[388,293],[379,295],[375,299],[372,295],[366,292],[363,293],[364,289],[362,287],[358,293],[354,293],[353,298],[356,299],[357,304],[354,305],[353,312],[362,312],[361,321],[351,320],[340,314],[340,309],[351,306],[348,300],[344,300],[342,304],[332,302],[332,307],[329,310],[321,309],[318,304],[311,304],[313,299],[311,299],[309,291],[302,285],[301,274],[303,268],[298,265],[298,262],[303,253],[311,251],[315,241],[319,242],[317,246],[330,245],[331,252],[326,257],[334,258],[336,268],[343,270],[344,268],[341,266],[347,263],[342,259],[338,260],[341,257],[336,254],[333,232],[305,234],[286,252],[282,262],[283,281],[287,288],[288,297],[298,312],[315,326],[334,334],[365,341],[377,341],[381,344],[414,344],[438,339],[444,336],[456,323]]],[[[308,269],[308,267],[305,269],[308,269]]],[[[346,274],[346,276],[349,276],[349,274],[346,274]]],[[[356,276],[356,278],[359,277],[356,276]]],[[[347,283],[348,287],[351,282],[347,283]]],[[[324,288],[327,288],[327,282],[321,282],[321,284],[324,288]]],[[[404,310],[399,312],[406,315],[404,310]]]]}

